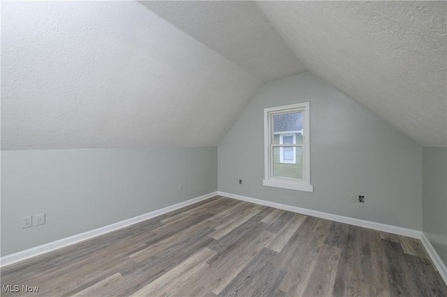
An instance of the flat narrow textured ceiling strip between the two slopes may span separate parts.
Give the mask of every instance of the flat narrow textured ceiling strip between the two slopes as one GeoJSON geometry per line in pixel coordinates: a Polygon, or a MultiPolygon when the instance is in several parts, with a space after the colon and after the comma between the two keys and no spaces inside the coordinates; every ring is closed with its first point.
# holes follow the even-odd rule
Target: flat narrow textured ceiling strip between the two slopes
{"type": "Polygon", "coordinates": [[[265,81],[305,71],[305,66],[253,1],[141,3],[265,81]]]}

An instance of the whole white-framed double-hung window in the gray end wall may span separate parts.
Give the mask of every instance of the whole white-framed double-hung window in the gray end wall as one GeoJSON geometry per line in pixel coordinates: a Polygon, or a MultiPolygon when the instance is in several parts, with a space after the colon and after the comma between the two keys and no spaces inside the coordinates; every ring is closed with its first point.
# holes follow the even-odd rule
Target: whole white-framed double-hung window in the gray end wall
{"type": "Polygon", "coordinates": [[[263,185],[313,192],[310,184],[309,102],[264,109],[263,185]]]}

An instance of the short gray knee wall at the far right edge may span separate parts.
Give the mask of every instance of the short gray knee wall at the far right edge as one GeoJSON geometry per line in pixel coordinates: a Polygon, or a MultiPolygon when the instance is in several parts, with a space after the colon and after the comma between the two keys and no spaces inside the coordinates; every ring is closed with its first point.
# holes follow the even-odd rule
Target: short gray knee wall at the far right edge
{"type": "Polygon", "coordinates": [[[447,148],[423,147],[423,231],[447,265],[447,148]]]}

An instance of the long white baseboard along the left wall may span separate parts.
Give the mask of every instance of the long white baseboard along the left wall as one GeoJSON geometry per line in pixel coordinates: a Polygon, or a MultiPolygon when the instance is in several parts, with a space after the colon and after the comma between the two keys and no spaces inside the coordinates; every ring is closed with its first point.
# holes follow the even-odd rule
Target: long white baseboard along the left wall
{"type": "Polygon", "coordinates": [[[11,264],[15,264],[20,261],[24,261],[33,257],[37,257],[41,254],[45,254],[47,252],[52,252],[54,250],[59,250],[60,248],[65,248],[68,245],[73,245],[75,243],[80,243],[81,241],[86,241],[87,239],[94,238],[96,236],[100,236],[103,234],[107,234],[109,232],[115,231],[117,229],[122,229],[124,227],[131,226],[132,224],[136,224],[138,222],[142,222],[144,220],[148,220],[150,218],[154,218],[158,215],[163,215],[164,213],[168,213],[170,211],[175,211],[178,208],[182,208],[184,206],[189,206],[198,201],[202,201],[205,199],[209,199],[218,195],[217,192],[211,192],[207,195],[203,195],[200,197],[196,197],[193,199],[189,199],[171,206],[167,206],[161,209],[157,209],[156,211],[151,211],[150,213],[145,213],[143,215],[138,215],[134,218],[130,218],[127,220],[122,220],[121,222],[116,222],[114,224],[109,224],[104,227],[100,227],[98,229],[90,230],[87,232],[83,232],[81,234],[76,234],[73,236],[69,236],[66,238],[59,239],[58,241],[52,241],[51,243],[45,243],[44,245],[38,245],[34,248],[29,248],[28,250],[22,250],[20,252],[16,252],[14,254],[8,254],[0,258],[0,267],[9,266],[11,264]]]}

